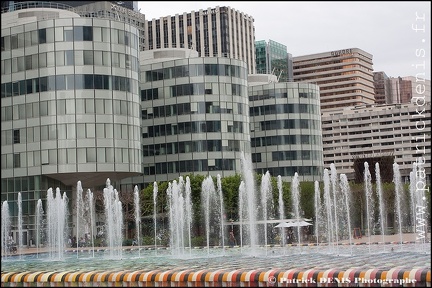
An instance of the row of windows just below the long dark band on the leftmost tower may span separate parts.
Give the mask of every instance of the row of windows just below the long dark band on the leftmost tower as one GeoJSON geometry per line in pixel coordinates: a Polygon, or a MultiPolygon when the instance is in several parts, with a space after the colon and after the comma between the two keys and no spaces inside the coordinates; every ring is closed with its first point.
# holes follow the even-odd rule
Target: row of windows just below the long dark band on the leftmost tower
{"type": "Polygon", "coordinates": [[[125,115],[139,117],[140,104],[111,99],[59,99],[1,107],[1,121],[56,115],[125,115]]]}

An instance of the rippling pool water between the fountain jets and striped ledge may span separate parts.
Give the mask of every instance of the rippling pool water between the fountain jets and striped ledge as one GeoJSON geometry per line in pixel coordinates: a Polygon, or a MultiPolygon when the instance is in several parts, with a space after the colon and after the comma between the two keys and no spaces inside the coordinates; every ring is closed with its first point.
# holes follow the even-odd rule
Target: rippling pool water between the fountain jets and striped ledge
{"type": "Polygon", "coordinates": [[[76,272],[137,270],[237,270],[237,269],[391,269],[394,267],[431,268],[429,243],[353,245],[341,247],[302,246],[248,248],[210,248],[186,250],[171,255],[167,249],[129,250],[112,258],[107,251],[94,253],[65,252],[62,260],[47,253],[15,255],[2,258],[2,274],[6,272],[76,272]]]}

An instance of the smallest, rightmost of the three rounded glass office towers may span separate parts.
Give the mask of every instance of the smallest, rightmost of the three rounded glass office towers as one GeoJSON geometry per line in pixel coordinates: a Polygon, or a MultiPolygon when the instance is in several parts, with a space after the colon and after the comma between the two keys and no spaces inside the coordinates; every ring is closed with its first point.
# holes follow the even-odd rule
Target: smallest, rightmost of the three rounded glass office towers
{"type": "Polygon", "coordinates": [[[311,83],[276,82],[275,75],[250,75],[252,162],[291,181],[321,181],[324,170],[319,88],[311,83]]]}

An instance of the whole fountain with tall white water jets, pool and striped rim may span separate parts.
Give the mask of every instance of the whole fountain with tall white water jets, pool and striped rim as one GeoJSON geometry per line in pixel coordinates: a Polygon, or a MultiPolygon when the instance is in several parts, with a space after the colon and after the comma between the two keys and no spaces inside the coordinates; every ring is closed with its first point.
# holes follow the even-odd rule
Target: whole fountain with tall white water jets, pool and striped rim
{"type": "MultiPolygon", "coordinates": [[[[246,166],[246,165],[245,165],[246,166]]],[[[398,179],[397,166],[395,169],[395,181],[398,179]]],[[[247,170],[245,168],[245,170],[247,170]]],[[[64,286],[286,286],[288,283],[303,283],[302,286],[317,285],[321,283],[322,286],[330,285],[330,280],[336,281],[351,281],[357,286],[367,286],[370,283],[383,283],[382,286],[391,286],[392,283],[403,284],[403,286],[428,286],[431,284],[430,273],[430,246],[429,243],[424,243],[421,250],[413,249],[417,247],[414,245],[422,245],[421,243],[411,243],[398,241],[397,243],[387,242],[387,251],[383,251],[381,244],[373,245],[355,245],[366,244],[361,242],[362,239],[351,239],[341,234],[338,234],[338,229],[343,231],[351,231],[351,217],[350,203],[351,199],[349,185],[345,174],[339,175],[333,168],[333,173],[330,175],[328,169],[324,170],[324,185],[323,185],[323,201],[321,201],[321,191],[319,191],[319,183],[315,182],[315,197],[311,199],[315,206],[315,233],[319,236],[320,230],[323,235],[320,235],[320,240],[316,243],[308,242],[298,245],[285,245],[282,239],[282,245],[268,246],[265,238],[257,237],[255,240],[252,235],[248,234],[250,230],[258,231],[257,225],[262,222],[270,225],[273,220],[270,210],[270,201],[263,200],[264,196],[268,195],[270,189],[268,184],[270,182],[268,176],[263,175],[260,193],[257,194],[256,202],[259,205],[252,206],[254,208],[251,212],[249,196],[255,194],[247,191],[250,184],[245,182],[246,179],[253,179],[253,177],[243,176],[239,186],[239,229],[240,231],[246,230],[245,237],[240,237],[240,241],[245,239],[246,245],[243,247],[233,247],[230,249],[223,249],[225,244],[223,238],[222,224],[225,218],[224,213],[219,204],[222,204],[222,184],[220,177],[217,178],[217,188],[215,182],[211,177],[204,179],[202,183],[202,205],[207,208],[206,222],[215,221],[215,225],[206,225],[205,234],[210,233],[208,239],[216,239],[219,237],[219,242],[210,245],[207,241],[205,248],[191,247],[190,232],[193,230],[192,223],[192,204],[191,187],[188,177],[186,182],[183,178],[179,178],[178,182],[174,180],[168,184],[167,200],[169,215],[168,221],[170,226],[170,246],[158,249],[158,253],[153,253],[156,249],[153,245],[144,246],[141,252],[136,249],[127,247],[115,246],[114,239],[109,240],[106,247],[100,247],[94,251],[93,258],[82,257],[85,251],[79,251],[80,257],[76,257],[75,249],[64,249],[62,258],[53,259],[47,255],[49,253],[39,254],[39,258],[33,254],[23,255],[24,261],[17,261],[17,257],[2,258],[2,287],[17,286],[20,283],[28,282],[26,284],[34,285],[41,284],[40,282],[57,281],[57,284],[64,286]],[[336,196],[335,196],[336,195],[336,196]],[[336,199],[336,201],[335,201],[336,199]],[[207,203],[207,204],[205,204],[207,203]],[[266,205],[264,205],[266,204],[266,205]],[[262,206],[258,209],[258,206],[262,206]],[[264,213],[263,207],[269,207],[267,217],[264,213]],[[338,206],[338,207],[335,207],[338,206]],[[337,209],[336,209],[337,208],[337,209]],[[321,211],[321,213],[320,213],[321,211]],[[254,214],[254,217],[250,217],[254,214]],[[210,216],[213,215],[213,216],[210,216]],[[261,218],[262,217],[262,218],[261,218]],[[344,218],[345,220],[341,220],[344,218]],[[252,221],[251,221],[252,220],[252,221]],[[266,221],[265,221],[266,220],[266,221]],[[251,225],[251,222],[254,225],[251,225]],[[270,223],[270,224],[269,224],[270,223]],[[321,225],[320,225],[321,223],[321,225]],[[207,228],[209,227],[209,228],[207,228]],[[219,227],[221,227],[219,229],[219,227]],[[242,228],[243,227],[243,228],[242,228]],[[338,229],[336,228],[338,227],[338,229]],[[214,230],[212,230],[212,228],[214,230]],[[320,229],[323,228],[323,229],[320,229]],[[220,230],[220,231],[218,231],[220,230]],[[207,232],[210,231],[210,232],[207,232]],[[255,241],[255,242],[254,242],[255,241]],[[354,243],[355,242],[355,243],[354,243]],[[111,246],[111,244],[113,246],[111,246]],[[253,245],[252,245],[253,244],[253,245]],[[403,245],[401,245],[403,244],[403,245]],[[222,247],[220,247],[220,245],[222,247]],[[244,253],[244,248],[250,246],[251,253],[244,253]],[[393,248],[400,247],[399,251],[393,248]],[[113,249],[111,249],[111,247],[113,249]],[[210,248],[211,247],[211,248],[210,248]],[[326,247],[333,250],[327,250],[326,247]],[[121,257],[113,257],[111,250],[120,250],[121,257]],[[188,249],[188,254],[184,253],[188,249]],[[335,251],[336,250],[336,251],[335,251]],[[269,253],[267,253],[267,251],[269,253]],[[295,253],[302,251],[302,253],[295,253]],[[70,253],[73,252],[73,253],[70,253]],[[289,253],[289,257],[283,256],[289,253]],[[140,257],[136,257],[140,255],[140,257]],[[227,261],[229,259],[229,261],[227,261]],[[47,271],[47,261],[55,260],[55,266],[50,271],[47,271]],[[97,267],[97,268],[95,268],[97,267]],[[269,267],[269,268],[268,268],[269,267]],[[44,272],[42,272],[44,271],[44,272]],[[337,274],[333,274],[337,271],[337,274]],[[296,282],[297,281],[297,282],[296,282]],[[378,282],[381,281],[381,282],[378,282]],[[33,284],[31,284],[31,283],[33,284]],[[37,283],[36,283],[37,282],[37,283]],[[78,282],[78,283],[77,283],[78,282]],[[276,285],[276,282],[277,285],[276,285]],[[314,283],[316,282],[316,283],[314,283]],[[387,283],[387,284],[386,284],[387,283]],[[390,284],[389,284],[390,283],[390,284]],[[414,283],[414,284],[413,284],[414,283]]],[[[248,180],[248,181],[249,181],[248,180]]],[[[284,219],[283,209],[283,189],[282,180],[278,176],[277,187],[279,190],[279,219],[284,219]]],[[[291,183],[292,200],[293,203],[300,203],[301,191],[299,189],[298,174],[296,173],[291,183]],[[297,189],[297,191],[296,191],[297,189]]],[[[397,183],[395,183],[397,184],[397,183]]],[[[400,185],[400,183],[398,184],[400,185]]],[[[397,186],[397,185],[395,185],[397,186]]],[[[379,189],[377,187],[377,189],[379,189]]],[[[402,189],[398,186],[398,189],[402,189]]],[[[134,189],[135,194],[136,189],[134,189]]],[[[56,197],[48,191],[48,211],[47,219],[53,211],[55,205],[62,206],[67,203],[66,198],[60,196],[60,191],[56,190],[56,197]],[[51,204],[50,204],[51,203],[51,204]],[[55,203],[55,204],[54,204],[55,203]]],[[[87,192],[86,197],[89,203],[92,203],[90,191],[87,192]]],[[[157,186],[154,185],[153,201],[157,200],[157,186]],[[156,188],[155,188],[156,187],[156,188]],[[156,192],[155,192],[156,191],[156,192]]],[[[38,201],[39,203],[39,201],[38,201]]],[[[136,201],[135,201],[136,203],[136,201]]],[[[291,203],[291,204],[293,204],[291,203]]],[[[117,219],[122,218],[121,202],[118,199],[118,194],[115,189],[110,185],[109,179],[107,180],[107,188],[104,189],[104,204],[106,213],[106,232],[107,239],[110,235],[116,235],[119,227],[117,219]],[[120,204],[120,205],[119,205],[120,204]],[[120,208],[120,209],[119,209],[120,208]],[[110,226],[112,226],[110,228],[110,226]]],[[[153,203],[154,207],[157,204],[153,203]]],[[[89,204],[93,207],[93,203],[89,204]]],[[[2,241],[9,229],[6,225],[4,227],[4,220],[7,218],[6,210],[8,204],[3,202],[2,208],[2,241]]],[[[39,205],[38,205],[39,206],[39,205]]],[[[299,205],[297,205],[299,206],[299,205]]],[[[223,207],[223,205],[222,205],[223,207]]],[[[396,207],[401,206],[396,205],[396,207]]],[[[39,209],[41,207],[38,207],[39,209]]],[[[293,206],[295,217],[302,215],[299,207],[293,206]],[[297,210],[298,209],[298,210],[297,210]]],[[[60,209],[61,210],[61,209],[60,209]]],[[[38,210],[39,211],[39,210],[38,210]]],[[[156,211],[156,209],[154,209],[156,211]]],[[[410,209],[412,211],[412,209],[410,209]]],[[[136,212],[136,211],[135,211],[136,212]]],[[[57,215],[66,215],[65,211],[57,215]]],[[[403,213],[403,212],[399,212],[403,213]]],[[[91,213],[92,214],[92,213],[91,213]]],[[[43,217],[43,211],[38,212],[39,217],[43,217]]],[[[156,218],[156,214],[155,218],[156,218]]],[[[381,217],[381,216],[380,216],[381,217]]],[[[60,219],[60,218],[59,218],[60,219]]],[[[380,218],[381,219],[381,218],[380,218]]],[[[399,218],[398,218],[399,219],[399,218]]],[[[40,221],[37,220],[37,221],[40,221]]],[[[277,220],[275,220],[277,221],[277,220]]],[[[55,225],[51,225],[52,221],[49,220],[48,235],[58,235],[59,232],[53,233],[51,230],[57,231],[55,225]]],[[[62,222],[62,221],[59,221],[62,222]]],[[[93,220],[92,220],[93,222],[93,220]]],[[[25,224],[25,223],[24,223],[25,224]]],[[[399,223],[398,223],[399,224],[399,223]]],[[[155,236],[156,222],[155,222],[155,236]]],[[[373,225],[371,220],[371,225],[373,225]]],[[[382,224],[381,224],[382,225],[382,224]]],[[[399,224],[400,225],[400,224],[399,224]]],[[[61,229],[60,229],[61,230],[61,229]]],[[[121,231],[121,230],[120,230],[121,231]]],[[[203,230],[204,231],[204,230],[203,230]]],[[[401,229],[399,230],[401,231],[401,229]]],[[[260,231],[261,233],[262,231],[260,231]]],[[[242,232],[240,232],[242,233],[242,232]]],[[[264,229],[264,234],[266,235],[264,229]]],[[[350,234],[350,233],[349,233],[350,234]]],[[[139,237],[140,235],[138,235],[139,237]]],[[[399,236],[399,235],[398,235],[399,236]]],[[[116,237],[121,238],[117,234],[116,237]]],[[[300,241],[299,237],[299,241],[300,241]]],[[[38,241],[37,241],[38,242],[38,241]]],[[[50,242],[52,242],[50,240],[50,242]]],[[[369,244],[372,244],[369,239],[369,244]]],[[[426,241],[425,241],[426,242],[426,241]]],[[[63,245],[65,245],[63,243],[63,245]]],[[[249,249],[248,249],[249,250],[249,249]]],[[[57,247],[55,251],[58,253],[57,247]]],[[[247,251],[249,252],[249,251],[247,251]]],[[[335,282],[333,282],[334,284],[335,282]]],[[[46,283],[45,283],[46,284],[46,283]]],[[[44,285],[45,285],[44,284],[44,285]]],[[[40,286],[40,285],[39,285],[40,286]]],[[[319,286],[319,285],[318,285],[319,286]]]]}

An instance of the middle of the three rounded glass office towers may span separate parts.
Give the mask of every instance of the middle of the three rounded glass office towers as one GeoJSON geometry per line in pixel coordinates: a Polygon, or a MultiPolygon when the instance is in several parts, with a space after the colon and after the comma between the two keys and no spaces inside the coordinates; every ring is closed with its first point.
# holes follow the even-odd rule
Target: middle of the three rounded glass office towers
{"type": "Polygon", "coordinates": [[[241,171],[240,153],[250,152],[244,61],[185,48],[145,51],[140,89],[143,176],[123,187],[241,171]]]}

